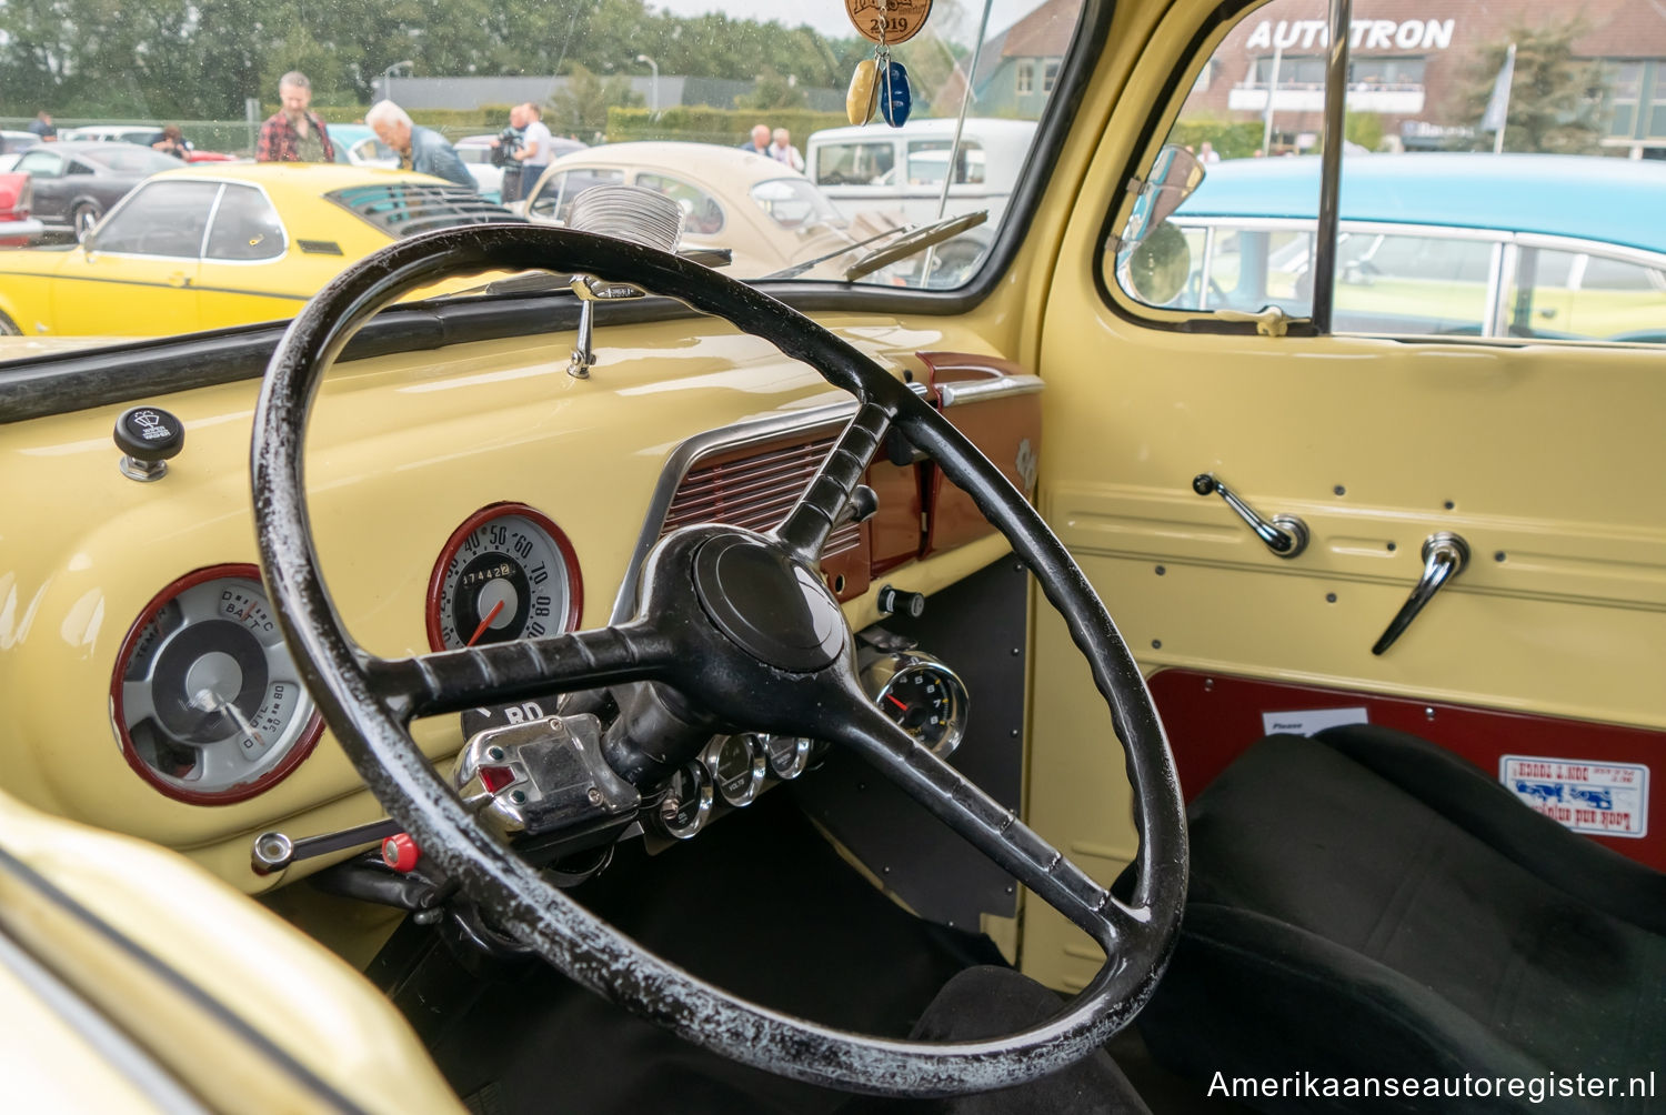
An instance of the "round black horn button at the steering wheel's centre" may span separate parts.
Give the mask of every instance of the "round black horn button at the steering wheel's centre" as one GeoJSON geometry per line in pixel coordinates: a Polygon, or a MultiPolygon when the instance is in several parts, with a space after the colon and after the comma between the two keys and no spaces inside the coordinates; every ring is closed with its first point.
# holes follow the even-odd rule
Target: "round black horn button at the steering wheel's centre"
{"type": "Polygon", "coordinates": [[[778,670],[810,673],[845,648],[845,613],[826,585],[758,538],[705,542],[695,552],[695,592],[718,630],[778,670]]]}

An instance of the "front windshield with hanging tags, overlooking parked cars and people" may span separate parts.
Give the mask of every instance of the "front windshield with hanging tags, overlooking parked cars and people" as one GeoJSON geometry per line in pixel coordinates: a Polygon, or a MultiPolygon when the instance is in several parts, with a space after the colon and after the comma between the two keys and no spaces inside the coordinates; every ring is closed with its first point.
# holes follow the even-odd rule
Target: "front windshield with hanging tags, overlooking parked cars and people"
{"type": "MultiPolygon", "coordinates": [[[[50,283],[73,283],[77,300],[112,307],[58,320],[63,298],[48,292],[42,305],[22,305],[22,290],[0,290],[0,320],[25,322],[32,333],[88,335],[97,323],[100,335],[155,335],[283,320],[387,243],[367,233],[423,227],[382,228],[382,210],[367,217],[342,203],[387,192],[390,175],[425,175],[423,188],[445,182],[501,207],[481,213],[535,223],[563,222],[575,187],[648,183],[685,212],[678,247],[728,250],[726,273],[736,278],[965,285],[1033,163],[1036,123],[1081,8],[1081,0],[893,3],[900,27],[885,32],[886,70],[876,68],[881,45],[865,35],[880,23],[871,0],[791,8],[595,0],[561,10],[200,0],[178,12],[137,2],[140,15],[68,0],[50,22],[0,5],[0,127],[58,143],[65,157],[38,163],[28,218],[42,228],[22,247],[0,247],[7,270],[48,272],[50,283]],[[925,12],[898,15],[908,7],[925,12]],[[72,143],[77,130],[102,142],[72,143]],[[72,147],[85,158],[70,158],[72,147]],[[180,270],[170,257],[157,265],[155,290],[140,263],[120,287],[72,275],[88,253],[63,248],[97,243],[123,192],[152,173],[187,173],[182,160],[193,180],[257,187],[282,227],[267,242],[313,247],[245,265],[235,278],[213,277],[223,263],[203,257],[183,287],[170,285],[180,270]],[[300,175],[298,163],[333,163],[333,175],[300,175]],[[120,187],[97,197],[60,188],[107,170],[120,187]],[[911,262],[846,278],[883,237],[971,212],[988,220],[951,245],[921,243],[911,262]],[[803,267],[830,253],[825,265],[803,267]],[[190,307],[138,305],[183,300],[182,292],[190,307]]],[[[0,223],[12,217],[0,213],[0,223]]],[[[212,220],[193,213],[192,227],[212,220]]]]}

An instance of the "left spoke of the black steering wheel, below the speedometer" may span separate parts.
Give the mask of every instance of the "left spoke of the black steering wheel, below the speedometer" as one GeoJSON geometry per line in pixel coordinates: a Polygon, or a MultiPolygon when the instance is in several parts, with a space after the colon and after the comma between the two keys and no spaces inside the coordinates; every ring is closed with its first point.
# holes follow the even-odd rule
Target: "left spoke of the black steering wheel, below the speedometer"
{"type": "Polygon", "coordinates": [[[641,622],[506,643],[368,658],[372,692],[403,720],[540,693],[566,693],[660,677],[670,643],[641,622]]]}

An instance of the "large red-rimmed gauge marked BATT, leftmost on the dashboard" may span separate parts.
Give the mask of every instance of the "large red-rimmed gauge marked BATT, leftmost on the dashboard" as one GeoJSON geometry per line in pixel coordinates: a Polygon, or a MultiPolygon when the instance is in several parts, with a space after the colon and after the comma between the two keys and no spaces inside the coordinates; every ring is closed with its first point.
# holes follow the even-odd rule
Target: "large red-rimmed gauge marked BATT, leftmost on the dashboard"
{"type": "Polygon", "coordinates": [[[323,732],[253,565],[157,593],[117,653],[110,717],[128,765],[193,803],[260,793],[323,732]]]}

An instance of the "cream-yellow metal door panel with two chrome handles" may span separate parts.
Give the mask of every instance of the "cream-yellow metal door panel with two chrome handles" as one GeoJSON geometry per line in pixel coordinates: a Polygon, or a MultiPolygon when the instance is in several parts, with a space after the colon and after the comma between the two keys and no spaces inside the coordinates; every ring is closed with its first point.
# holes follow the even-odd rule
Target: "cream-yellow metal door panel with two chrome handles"
{"type": "MultiPolygon", "coordinates": [[[[1135,128],[1113,118],[1120,133],[1135,128]]],[[[1659,352],[1141,322],[1093,273],[1128,177],[1108,140],[1050,287],[1040,507],[1143,667],[1666,727],[1659,352]],[[1306,550],[1273,555],[1193,492],[1205,472],[1264,517],[1303,518],[1306,550]],[[1373,655],[1436,532],[1468,540],[1468,568],[1373,655]]],[[[1110,718],[1036,613],[1030,815],[1066,853],[1103,852],[1080,862],[1110,882],[1135,850],[1121,755],[1085,743],[1110,718]]],[[[1025,970],[1080,987],[1098,950],[1038,907],[1025,970]]]]}

